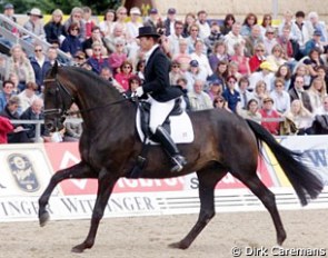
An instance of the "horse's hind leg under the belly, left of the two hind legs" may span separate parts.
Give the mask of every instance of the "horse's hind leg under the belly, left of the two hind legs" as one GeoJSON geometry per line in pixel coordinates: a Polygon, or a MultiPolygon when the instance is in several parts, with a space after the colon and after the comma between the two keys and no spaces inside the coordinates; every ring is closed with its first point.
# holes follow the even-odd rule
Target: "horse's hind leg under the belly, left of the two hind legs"
{"type": "Polygon", "coordinates": [[[226,175],[219,169],[202,169],[197,172],[199,179],[200,212],[196,225],[188,235],[179,242],[169,245],[172,248],[187,249],[197,236],[202,231],[207,224],[215,217],[215,187],[226,175]]]}

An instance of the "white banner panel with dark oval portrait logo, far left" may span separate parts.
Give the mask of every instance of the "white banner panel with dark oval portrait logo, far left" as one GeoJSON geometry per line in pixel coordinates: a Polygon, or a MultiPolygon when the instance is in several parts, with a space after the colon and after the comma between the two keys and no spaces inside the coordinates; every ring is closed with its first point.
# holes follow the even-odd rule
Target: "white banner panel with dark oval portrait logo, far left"
{"type": "Polygon", "coordinates": [[[1,145],[0,163],[0,197],[40,196],[52,175],[40,143],[1,145]]]}

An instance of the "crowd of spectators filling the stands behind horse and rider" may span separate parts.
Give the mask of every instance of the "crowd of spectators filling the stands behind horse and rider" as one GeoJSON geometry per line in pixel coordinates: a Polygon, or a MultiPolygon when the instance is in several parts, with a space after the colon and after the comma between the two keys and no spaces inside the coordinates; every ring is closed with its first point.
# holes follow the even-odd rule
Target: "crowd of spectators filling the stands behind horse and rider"
{"type": "MultiPolygon", "coordinates": [[[[3,14],[17,21],[11,3],[3,14]]],[[[222,108],[256,119],[274,135],[317,133],[314,122],[328,128],[328,119],[321,119],[328,116],[328,34],[315,11],[286,11],[278,27],[270,13],[261,19],[248,13],[243,21],[233,13],[209,20],[207,11],[199,10],[179,20],[175,8],[165,16],[152,8],[142,17],[137,7],[119,7],[106,10],[100,22],[89,7],[73,8],[64,21],[57,9],[46,24],[40,9],[28,16],[23,27],[39,41],[14,26],[0,24],[34,46],[32,56],[20,44],[11,46],[10,57],[0,56],[0,116],[10,120],[43,119],[43,79],[58,59],[57,49],[71,57],[69,66],[91,70],[131,95],[142,85],[147,58],[138,29],[150,26],[161,34],[160,46],[171,60],[170,83],[183,91],[186,110],[222,108]],[[51,47],[43,49],[42,40],[51,47]]],[[[34,126],[14,125],[8,132],[6,125],[9,142],[33,140],[34,126]]],[[[61,137],[77,140],[80,133],[80,127],[69,125],[61,137]]],[[[53,140],[44,128],[42,138],[53,140]]]]}

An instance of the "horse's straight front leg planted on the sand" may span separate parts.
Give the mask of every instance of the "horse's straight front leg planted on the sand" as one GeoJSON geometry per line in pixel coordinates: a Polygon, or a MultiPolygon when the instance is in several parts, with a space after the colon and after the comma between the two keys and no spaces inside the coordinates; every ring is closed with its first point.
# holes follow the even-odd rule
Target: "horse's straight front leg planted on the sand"
{"type": "Polygon", "coordinates": [[[102,169],[98,178],[97,199],[92,211],[91,226],[86,240],[72,248],[73,252],[82,252],[87,248],[91,248],[95,244],[99,222],[103,217],[105,208],[112,192],[113,186],[118,178],[113,177],[107,169],[102,169]]]}

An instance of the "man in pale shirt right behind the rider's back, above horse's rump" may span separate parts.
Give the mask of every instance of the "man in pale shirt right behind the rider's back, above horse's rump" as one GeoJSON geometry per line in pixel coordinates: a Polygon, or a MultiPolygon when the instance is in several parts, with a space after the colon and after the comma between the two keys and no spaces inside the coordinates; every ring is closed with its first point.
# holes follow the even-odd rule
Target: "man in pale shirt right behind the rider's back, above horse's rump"
{"type": "Polygon", "coordinates": [[[188,92],[190,108],[192,111],[212,109],[212,101],[208,93],[203,91],[205,81],[196,80],[193,89],[188,92]]]}

